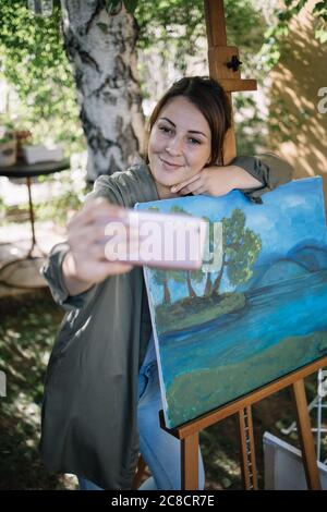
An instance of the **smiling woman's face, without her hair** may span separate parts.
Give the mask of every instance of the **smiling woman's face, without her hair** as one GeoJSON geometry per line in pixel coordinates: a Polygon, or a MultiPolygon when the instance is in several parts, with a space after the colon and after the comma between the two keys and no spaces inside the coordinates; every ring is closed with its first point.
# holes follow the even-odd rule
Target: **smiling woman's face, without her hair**
{"type": "Polygon", "coordinates": [[[177,185],[197,174],[211,154],[210,127],[187,98],[170,99],[159,112],[148,143],[148,160],[160,198],[174,197],[177,185]]]}

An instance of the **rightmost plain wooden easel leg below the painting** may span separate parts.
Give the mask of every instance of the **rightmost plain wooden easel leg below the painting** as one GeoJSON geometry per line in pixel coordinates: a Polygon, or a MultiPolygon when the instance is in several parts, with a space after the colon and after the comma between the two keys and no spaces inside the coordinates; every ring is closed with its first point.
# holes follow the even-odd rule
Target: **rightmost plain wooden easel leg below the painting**
{"type": "Polygon", "coordinates": [[[307,488],[320,490],[320,478],[318,473],[315,446],[311,430],[307,402],[305,395],[304,380],[300,379],[292,385],[295,401],[298,431],[302,448],[302,458],[306,476],[307,488]]]}

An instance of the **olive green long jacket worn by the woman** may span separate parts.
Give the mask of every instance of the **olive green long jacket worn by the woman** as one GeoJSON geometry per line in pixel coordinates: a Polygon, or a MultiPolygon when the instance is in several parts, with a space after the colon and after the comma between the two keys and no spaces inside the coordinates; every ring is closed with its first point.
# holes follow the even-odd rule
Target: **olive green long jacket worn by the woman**
{"type": "MultiPolygon", "coordinates": [[[[272,155],[238,157],[233,163],[263,183],[243,191],[256,203],[291,175],[272,155]]],[[[90,195],[124,207],[159,199],[145,164],[100,176],[90,195]]],[[[65,243],[56,245],[44,267],[66,315],[47,369],[41,458],[51,471],[84,476],[105,489],[129,489],[138,456],[137,376],[152,332],[143,270],[111,276],[70,296],[61,273],[68,249],[65,243]]]]}

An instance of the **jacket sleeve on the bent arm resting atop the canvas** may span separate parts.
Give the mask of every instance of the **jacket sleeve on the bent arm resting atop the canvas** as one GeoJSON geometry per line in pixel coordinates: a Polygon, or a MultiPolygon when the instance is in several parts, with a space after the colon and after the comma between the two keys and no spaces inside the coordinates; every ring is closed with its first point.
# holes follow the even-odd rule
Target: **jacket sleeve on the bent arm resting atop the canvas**
{"type": "Polygon", "coordinates": [[[263,186],[259,188],[242,190],[243,194],[253,203],[263,203],[263,194],[274,191],[277,186],[288,183],[292,179],[292,166],[272,153],[254,157],[235,157],[231,164],[241,167],[262,182],[263,186]]]}

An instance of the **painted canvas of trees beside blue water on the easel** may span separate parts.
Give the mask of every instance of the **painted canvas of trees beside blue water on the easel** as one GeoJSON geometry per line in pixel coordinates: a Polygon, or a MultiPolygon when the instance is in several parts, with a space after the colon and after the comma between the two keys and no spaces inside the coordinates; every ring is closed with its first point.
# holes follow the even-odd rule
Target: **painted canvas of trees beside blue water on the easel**
{"type": "Polygon", "coordinates": [[[144,268],[166,424],[172,428],[327,354],[320,178],[136,205],[209,222],[197,271],[144,268]]]}

